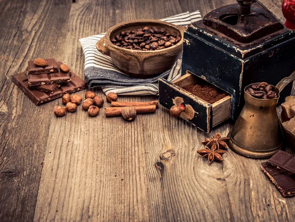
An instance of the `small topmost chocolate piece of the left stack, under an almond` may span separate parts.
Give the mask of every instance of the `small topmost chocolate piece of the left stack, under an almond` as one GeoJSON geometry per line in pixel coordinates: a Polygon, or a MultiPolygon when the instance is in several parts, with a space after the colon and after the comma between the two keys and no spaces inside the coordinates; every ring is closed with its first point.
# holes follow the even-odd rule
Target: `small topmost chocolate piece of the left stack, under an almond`
{"type": "Polygon", "coordinates": [[[48,65],[45,67],[36,66],[33,60],[28,61],[28,74],[39,75],[39,74],[59,72],[57,62],[54,58],[49,58],[44,60],[48,62],[48,65]]]}

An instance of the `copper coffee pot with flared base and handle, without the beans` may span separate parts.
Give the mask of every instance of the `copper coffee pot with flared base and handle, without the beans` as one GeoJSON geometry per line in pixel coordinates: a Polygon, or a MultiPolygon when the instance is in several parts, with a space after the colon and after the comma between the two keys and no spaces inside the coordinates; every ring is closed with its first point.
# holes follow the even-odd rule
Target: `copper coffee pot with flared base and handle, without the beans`
{"type": "MultiPolygon", "coordinates": [[[[272,90],[279,93],[294,80],[295,72],[282,79],[272,90]]],[[[246,93],[251,85],[244,88],[245,106],[228,135],[230,138],[228,145],[246,157],[269,158],[283,147],[283,135],[276,112],[279,97],[254,98],[246,93]]]]}

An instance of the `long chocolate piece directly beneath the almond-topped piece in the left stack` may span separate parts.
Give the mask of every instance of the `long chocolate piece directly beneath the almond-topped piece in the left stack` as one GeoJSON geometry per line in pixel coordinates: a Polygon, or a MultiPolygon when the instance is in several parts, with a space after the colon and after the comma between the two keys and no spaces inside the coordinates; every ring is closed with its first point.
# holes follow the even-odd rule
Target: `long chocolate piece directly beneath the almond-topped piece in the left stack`
{"type": "Polygon", "coordinates": [[[35,85],[45,85],[45,84],[58,84],[67,83],[71,81],[70,72],[63,73],[51,73],[51,74],[39,74],[39,75],[28,75],[28,85],[29,88],[35,85]]]}

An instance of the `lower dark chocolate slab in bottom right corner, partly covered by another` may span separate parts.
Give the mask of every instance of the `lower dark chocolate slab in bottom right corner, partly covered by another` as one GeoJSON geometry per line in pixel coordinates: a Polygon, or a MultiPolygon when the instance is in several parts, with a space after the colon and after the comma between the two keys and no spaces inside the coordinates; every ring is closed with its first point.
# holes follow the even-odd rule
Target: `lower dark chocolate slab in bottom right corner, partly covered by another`
{"type": "Polygon", "coordinates": [[[267,162],[261,164],[262,170],[276,186],[284,197],[295,196],[295,177],[281,173],[280,171],[267,167],[267,162]]]}

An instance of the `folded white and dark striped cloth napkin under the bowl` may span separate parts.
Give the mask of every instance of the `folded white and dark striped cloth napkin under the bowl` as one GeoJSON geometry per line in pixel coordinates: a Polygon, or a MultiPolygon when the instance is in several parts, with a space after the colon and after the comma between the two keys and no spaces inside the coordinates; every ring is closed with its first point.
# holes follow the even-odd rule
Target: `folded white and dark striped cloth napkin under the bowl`
{"type": "MultiPolygon", "coordinates": [[[[200,12],[195,11],[175,15],[162,21],[187,26],[201,18],[200,12]]],[[[90,88],[101,87],[106,95],[110,92],[118,95],[158,95],[159,78],[164,77],[173,81],[180,77],[181,60],[178,60],[171,70],[153,78],[138,79],[125,75],[115,66],[111,57],[101,54],[96,49],[95,44],[105,34],[92,35],[79,40],[85,55],[85,82],[90,88]]]]}

